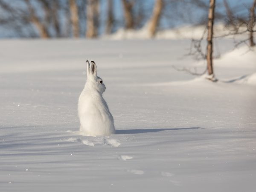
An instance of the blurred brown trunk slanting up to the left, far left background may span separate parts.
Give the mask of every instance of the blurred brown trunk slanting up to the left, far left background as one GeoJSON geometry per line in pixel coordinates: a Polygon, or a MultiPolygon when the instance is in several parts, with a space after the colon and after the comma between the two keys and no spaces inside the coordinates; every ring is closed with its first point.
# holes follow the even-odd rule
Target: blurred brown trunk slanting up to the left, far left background
{"type": "Polygon", "coordinates": [[[26,4],[28,6],[29,9],[29,19],[31,20],[32,23],[34,23],[34,25],[37,27],[40,37],[41,38],[50,38],[49,32],[46,28],[46,26],[44,26],[43,23],[41,23],[41,21],[39,20],[38,16],[35,15],[35,10],[32,7],[31,3],[29,0],[26,0],[26,4]]]}

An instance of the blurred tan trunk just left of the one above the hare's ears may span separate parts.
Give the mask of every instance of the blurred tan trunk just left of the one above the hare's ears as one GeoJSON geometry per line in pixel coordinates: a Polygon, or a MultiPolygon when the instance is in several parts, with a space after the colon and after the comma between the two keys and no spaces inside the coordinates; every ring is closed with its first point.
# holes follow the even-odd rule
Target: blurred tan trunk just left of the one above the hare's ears
{"type": "Polygon", "coordinates": [[[73,36],[79,38],[80,28],[79,28],[79,14],[76,4],[76,0],[69,0],[70,12],[71,12],[71,23],[73,27],[73,36]]]}

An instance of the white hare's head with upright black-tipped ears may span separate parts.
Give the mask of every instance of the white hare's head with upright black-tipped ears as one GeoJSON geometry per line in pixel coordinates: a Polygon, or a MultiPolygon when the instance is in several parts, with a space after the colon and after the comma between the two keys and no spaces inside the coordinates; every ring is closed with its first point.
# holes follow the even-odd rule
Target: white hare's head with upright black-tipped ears
{"type": "Polygon", "coordinates": [[[104,93],[106,90],[103,80],[97,76],[97,66],[94,61],[86,61],[87,63],[87,81],[88,87],[97,90],[99,93],[104,93]]]}

